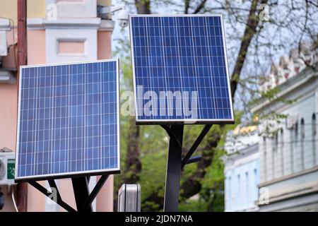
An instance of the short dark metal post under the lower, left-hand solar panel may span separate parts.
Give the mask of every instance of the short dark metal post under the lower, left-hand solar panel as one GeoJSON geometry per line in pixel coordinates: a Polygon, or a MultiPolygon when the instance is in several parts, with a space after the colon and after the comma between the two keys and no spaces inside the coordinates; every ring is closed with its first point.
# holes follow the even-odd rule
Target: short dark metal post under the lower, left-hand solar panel
{"type": "Polygon", "coordinates": [[[84,208],[84,204],[86,203],[88,196],[90,196],[87,177],[72,178],[72,184],[77,211],[93,212],[92,205],[88,206],[88,208],[84,208]]]}

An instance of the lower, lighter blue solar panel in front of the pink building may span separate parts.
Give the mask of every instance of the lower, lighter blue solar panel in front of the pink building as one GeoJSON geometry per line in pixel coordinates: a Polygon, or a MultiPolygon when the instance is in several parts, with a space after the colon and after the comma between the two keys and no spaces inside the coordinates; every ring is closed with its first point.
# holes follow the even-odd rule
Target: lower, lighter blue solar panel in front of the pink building
{"type": "Polygon", "coordinates": [[[119,171],[118,65],[21,67],[17,181],[119,171]]]}

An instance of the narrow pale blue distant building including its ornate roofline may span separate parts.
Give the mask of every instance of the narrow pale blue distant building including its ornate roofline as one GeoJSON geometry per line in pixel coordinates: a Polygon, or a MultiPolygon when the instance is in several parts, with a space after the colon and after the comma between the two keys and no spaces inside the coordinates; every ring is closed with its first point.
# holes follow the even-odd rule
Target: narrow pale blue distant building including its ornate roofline
{"type": "Polygon", "coordinates": [[[228,134],[225,165],[225,211],[256,211],[259,197],[259,144],[256,126],[228,134]]]}

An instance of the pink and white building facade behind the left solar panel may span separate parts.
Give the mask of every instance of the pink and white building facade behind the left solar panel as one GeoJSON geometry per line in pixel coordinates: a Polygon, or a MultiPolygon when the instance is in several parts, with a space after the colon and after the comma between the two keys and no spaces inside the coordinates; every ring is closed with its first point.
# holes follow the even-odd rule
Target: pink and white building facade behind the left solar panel
{"type": "MultiPolygon", "coordinates": [[[[111,35],[114,21],[98,18],[98,5],[110,6],[107,0],[28,0],[28,64],[52,64],[91,61],[112,57],[111,35]]],[[[1,53],[0,73],[0,148],[16,150],[18,84],[16,83],[17,0],[0,1],[0,37],[7,52],[1,53]]],[[[5,49],[5,48],[4,48],[5,49]]],[[[90,189],[98,178],[90,179],[90,189]]],[[[40,182],[47,186],[45,182],[40,182]]],[[[76,207],[70,179],[57,180],[61,196],[76,207]]],[[[11,194],[6,192],[2,211],[15,211],[11,194]]],[[[110,177],[93,203],[97,211],[112,211],[113,179],[110,177]]],[[[28,186],[28,211],[64,211],[44,195],[28,186]]]]}

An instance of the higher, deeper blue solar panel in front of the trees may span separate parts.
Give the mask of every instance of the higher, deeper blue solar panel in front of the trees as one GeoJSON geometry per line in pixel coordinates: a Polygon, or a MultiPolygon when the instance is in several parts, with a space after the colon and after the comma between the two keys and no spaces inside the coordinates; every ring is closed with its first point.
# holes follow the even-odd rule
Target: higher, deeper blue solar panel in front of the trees
{"type": "Polygon", "coordinates": [[[129,22],[137,124],[234,122],[222,16],[129,22]]]}

